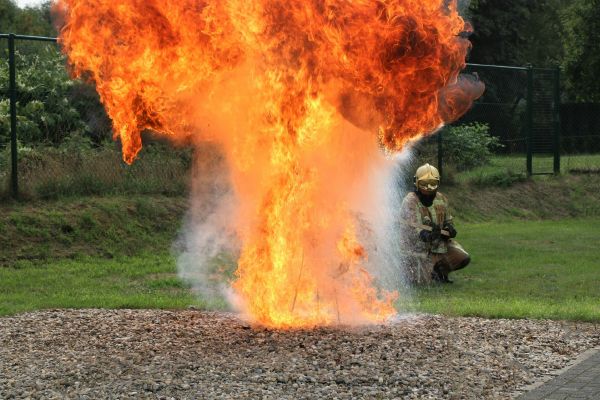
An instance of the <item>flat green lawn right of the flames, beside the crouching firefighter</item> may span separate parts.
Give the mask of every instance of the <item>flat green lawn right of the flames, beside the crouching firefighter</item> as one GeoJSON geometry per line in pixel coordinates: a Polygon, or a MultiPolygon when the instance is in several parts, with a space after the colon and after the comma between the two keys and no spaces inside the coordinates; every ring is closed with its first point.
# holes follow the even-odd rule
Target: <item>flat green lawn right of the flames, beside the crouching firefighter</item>
{"type": "Polygon", "coordinates": [[[460,225],[472,255],[454,284],[423,287],[405,310],[600,321],[600,219],[460,225]]]}

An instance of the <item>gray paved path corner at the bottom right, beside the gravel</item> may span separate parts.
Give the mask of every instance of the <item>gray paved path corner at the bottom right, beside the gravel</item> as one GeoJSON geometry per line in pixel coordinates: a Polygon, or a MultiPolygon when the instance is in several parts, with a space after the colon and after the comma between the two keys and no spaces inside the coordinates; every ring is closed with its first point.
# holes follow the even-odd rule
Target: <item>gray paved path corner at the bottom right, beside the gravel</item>
{"type": "Polygon", "coordinates": [[[586,352],[577,363],[519,400],[600,399],[600,349],[586,352]]]}

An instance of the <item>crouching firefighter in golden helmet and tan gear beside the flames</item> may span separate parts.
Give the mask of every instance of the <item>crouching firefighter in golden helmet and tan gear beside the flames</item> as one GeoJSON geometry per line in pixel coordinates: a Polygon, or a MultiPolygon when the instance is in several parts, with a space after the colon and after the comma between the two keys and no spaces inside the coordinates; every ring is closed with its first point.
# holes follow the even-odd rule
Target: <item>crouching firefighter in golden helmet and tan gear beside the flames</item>
{"type": "Polygon", "coordinates": [[[446,196],[438,192],[440,173],[425,164],[414,176],[415,190],[402,201],[402,252],[406,278],[412,283],[452,283],[448,275],[471,258],[454,240],[456,229],[446,196]]]}

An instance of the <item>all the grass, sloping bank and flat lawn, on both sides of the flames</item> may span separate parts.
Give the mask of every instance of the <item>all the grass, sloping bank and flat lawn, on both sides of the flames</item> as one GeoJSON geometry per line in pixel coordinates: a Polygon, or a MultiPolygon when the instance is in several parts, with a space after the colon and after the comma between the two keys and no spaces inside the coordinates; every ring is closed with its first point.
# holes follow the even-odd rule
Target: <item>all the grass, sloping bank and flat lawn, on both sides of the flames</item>
{"type": "MultiPolygon", "coordinates": [[[[594,175],[446,187],[473,264],[454,285],[418,290],[403,307],[600,320],[598,187],[594,175]]],[[[170,250],[186,207],[163,196],[0,206],[0,314],[205,306],[177,279],[170,250]]]]}

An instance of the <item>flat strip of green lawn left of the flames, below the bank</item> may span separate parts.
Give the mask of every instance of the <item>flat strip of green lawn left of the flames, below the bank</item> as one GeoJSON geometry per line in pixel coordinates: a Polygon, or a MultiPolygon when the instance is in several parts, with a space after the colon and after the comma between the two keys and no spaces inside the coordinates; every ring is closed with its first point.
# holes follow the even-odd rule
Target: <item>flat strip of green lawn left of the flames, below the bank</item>
{"type": "Polygon", "coordinates": [[[168,254],[19,261],[0,268],[0,315],[50,308],[223,308],[199,300],[168,254]]]}

